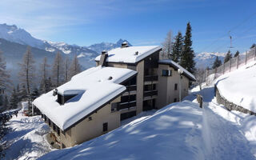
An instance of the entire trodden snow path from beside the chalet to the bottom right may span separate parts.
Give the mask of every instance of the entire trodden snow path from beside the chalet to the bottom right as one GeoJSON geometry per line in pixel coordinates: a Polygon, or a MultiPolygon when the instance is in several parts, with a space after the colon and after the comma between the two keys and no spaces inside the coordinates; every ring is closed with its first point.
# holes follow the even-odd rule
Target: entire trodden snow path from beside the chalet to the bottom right
{"type": "MultiPolygon", "coordinates": [[[[195,101],[195,95],[202,94],[202,136],[206,145],[206,157],[210,159],[255,159],[250,142],[245,137],[238,120],[223,118],[232,114],[219,106],[214,98],[214,87],[192,92],[186,100],[195,101]],[[221,112],[219,110],[222,110],[221,112]]],[[[238,118],[234,117],[233,118],[238,118]]]]}

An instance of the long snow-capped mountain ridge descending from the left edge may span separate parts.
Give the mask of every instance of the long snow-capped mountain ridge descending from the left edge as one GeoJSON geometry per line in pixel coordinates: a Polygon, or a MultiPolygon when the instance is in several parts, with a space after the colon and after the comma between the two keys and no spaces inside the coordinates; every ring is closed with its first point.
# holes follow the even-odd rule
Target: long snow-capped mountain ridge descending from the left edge
{"type": "MultiPolygon", "coordinates": [[[[7,24],[0,24],[0,38],[5,39],[8,42],[15,42],[25,46],[32,46],[40,50],[46,50],[47,53],[57,53],[58,51],[60,51],[62,54],[65,54],[67,55],[67,57],[70,58],[74,57],[75,54],[80,55],[78,56],[78,58],[83,68],[89,68],[91,66],[94,66],[94,58],[98,56],[97,52],[95,52],[94,50],[90,50],[86,47],[69,45],[65,42],[48,42],[38,38],[34,38],[26,30],[20,29],[15,25],[10,26],[7,24]]],[[[9,48],[9,50],[13,49],[9,48]]],[[[6,50],[6,52],[9,52],[9,50],[6,50]]],[[[22,49],[16,47],[15,50],[17,53],[20,53],[20,50],[22,49]]],[[[35,57],[36,56],[37,55],[35,55],[35,57]]]]}

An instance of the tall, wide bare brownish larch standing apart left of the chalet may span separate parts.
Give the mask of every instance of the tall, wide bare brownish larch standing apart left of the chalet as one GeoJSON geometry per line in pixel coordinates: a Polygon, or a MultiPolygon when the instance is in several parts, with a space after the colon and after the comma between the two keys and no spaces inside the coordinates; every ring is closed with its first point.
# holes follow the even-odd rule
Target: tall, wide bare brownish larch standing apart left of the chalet
{"type": "Polygon", "coordinates": [[[19,77],[21,78],[22,84],[26,86],[26,92],[30,96],[31,86],[34,85],[34,59],[31,53],[30,46],[27,47],[26,53],[23,55],[23,62],[19,63],[20,71],[19,77]]]}

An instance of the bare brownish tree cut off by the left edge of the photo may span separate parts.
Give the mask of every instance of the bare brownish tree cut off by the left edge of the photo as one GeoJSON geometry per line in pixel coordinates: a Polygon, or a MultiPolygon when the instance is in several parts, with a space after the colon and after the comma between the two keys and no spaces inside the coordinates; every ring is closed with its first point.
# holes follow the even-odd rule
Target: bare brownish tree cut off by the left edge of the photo
{"type": "Polygon", "coordinates": [[[6,90],[10,87],[10,74],[6,71],[6,61],[0,50],[0,89],[6,90]]]}

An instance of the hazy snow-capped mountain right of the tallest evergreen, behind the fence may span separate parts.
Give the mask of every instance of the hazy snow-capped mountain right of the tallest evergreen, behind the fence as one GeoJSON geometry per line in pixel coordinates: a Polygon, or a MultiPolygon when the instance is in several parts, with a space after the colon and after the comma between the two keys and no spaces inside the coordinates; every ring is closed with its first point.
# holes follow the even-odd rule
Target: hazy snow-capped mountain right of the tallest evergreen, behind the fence
{"type": "Polygon", "coordinates": [[[226,53],[209,53],[209,52],[202,52],[199,54],[195,54],[195,62],[197,67],[205,68],[207,66],[211,67],[213,66],[215,58],[218,56],[218,58],[223,62],[225,58],[226,53]]]}

